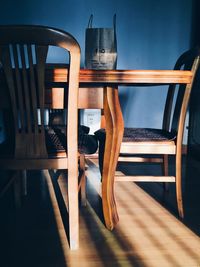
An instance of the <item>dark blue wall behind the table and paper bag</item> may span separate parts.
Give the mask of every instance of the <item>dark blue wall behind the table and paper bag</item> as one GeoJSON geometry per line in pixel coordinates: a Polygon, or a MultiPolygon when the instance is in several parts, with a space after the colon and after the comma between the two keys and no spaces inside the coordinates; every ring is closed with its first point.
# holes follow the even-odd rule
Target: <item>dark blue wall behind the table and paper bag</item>
{"type": "MultiPolygon", "coordinates": [[[[118,68],[169,69],[191,45],[191,0],[6,0],[0,24],[42,24],[71,32],[82,48],[91,13],[94,26],[112,26],[117,14],[118,68]]],[[[55,55],[56,56],[56,55],[55,55]]],[[[165,90],[121,88],[128,126],[160,126],[165,90]],[[150,116],[148,110],[154,110],[150,116]]]]}

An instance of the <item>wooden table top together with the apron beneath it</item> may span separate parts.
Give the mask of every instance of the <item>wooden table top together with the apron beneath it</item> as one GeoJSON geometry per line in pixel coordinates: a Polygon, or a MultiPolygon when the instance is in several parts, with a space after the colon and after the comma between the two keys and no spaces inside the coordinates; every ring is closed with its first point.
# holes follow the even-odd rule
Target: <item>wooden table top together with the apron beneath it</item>
{"type": "MultiPolygon", "coordinates": [[[[67,66],[48,64],[45,74],[47,103],[52,107],[61,108],[63,92],[60,87],[67,81],[67,66]]],[[[102,109],[103,87],[119,85],[159,85],[190,83],[192,73],[184,70],[88,70],[80,69],[79,103],[80,109],[102,109]],[[92,87],[89,88],[89,87],[92,87]]],[[[2,80],[0,81],[2,83],[2,80]]],[[[0,85],[0,107],[6,107],[7,90],[5,84],[0,85]]]]}

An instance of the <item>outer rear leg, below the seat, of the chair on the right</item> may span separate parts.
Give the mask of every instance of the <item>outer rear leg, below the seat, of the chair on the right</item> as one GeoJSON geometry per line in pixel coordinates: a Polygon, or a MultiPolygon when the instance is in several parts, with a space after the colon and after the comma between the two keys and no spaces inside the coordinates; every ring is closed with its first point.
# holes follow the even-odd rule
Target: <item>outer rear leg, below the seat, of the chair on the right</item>
{"type": "Polygon", "coordinates": [[[181,151],[177,151],[177,154],[176,154],[176,199],[177,199],[179,216],[183,218],[184,211],[183,211],[183,199],[182,199],[181,160],[182,160],[181,151]]]}

